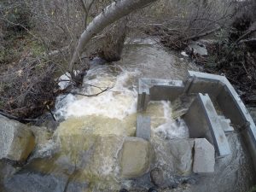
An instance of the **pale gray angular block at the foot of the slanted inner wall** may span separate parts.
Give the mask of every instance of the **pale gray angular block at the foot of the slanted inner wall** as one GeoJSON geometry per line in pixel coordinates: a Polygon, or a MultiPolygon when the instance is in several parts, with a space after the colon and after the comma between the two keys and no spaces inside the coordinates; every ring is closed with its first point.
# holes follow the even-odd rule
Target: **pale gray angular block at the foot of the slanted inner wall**
{"type": "Polygon", "coordinates": [[[193,172],[207,173],[214,172],[215,151],[211,143],[205,138],[195,139],[195,155],[193,172]]]}

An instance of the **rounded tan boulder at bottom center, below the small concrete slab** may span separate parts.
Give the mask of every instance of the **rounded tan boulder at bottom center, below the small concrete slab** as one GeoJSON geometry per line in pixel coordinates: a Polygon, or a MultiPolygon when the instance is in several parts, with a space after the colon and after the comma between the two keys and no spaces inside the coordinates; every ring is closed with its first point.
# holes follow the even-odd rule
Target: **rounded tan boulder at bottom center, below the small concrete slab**
{"type": "Polygon", "coordinates": [[[138,137],[126,137],[120,151],[119,166],[121,176],[140,177],[146,173],[150,164],[149,143],[138,137]]]}

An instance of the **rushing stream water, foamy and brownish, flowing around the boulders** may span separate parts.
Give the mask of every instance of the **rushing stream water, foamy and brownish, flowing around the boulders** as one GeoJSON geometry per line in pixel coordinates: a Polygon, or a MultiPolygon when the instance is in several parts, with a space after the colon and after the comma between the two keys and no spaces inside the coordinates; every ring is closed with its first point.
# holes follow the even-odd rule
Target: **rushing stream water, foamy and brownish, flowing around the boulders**
{"type": "MultiPolygon", "coordinates": [[[[148,175],[137,180],[119,176],[119,150],[125,137],[135,136],[136,131],[137,79],[183,79],[188,69],[197,68],[179,55],[143,42],[127,44],[122,58],[112,65],[93,64],[84,78],[83,88],[74,90],[79,95],[57,98],[55,117],[61,120],[61,125],[46,147],[51,148],[55,143],[58,149],[48,158],[32,160],[15,177],[6,176],[8,179],[4,185],[7,191],[118,191],[123,187],[145,191],[152,185],[148,175]],[[98,93],[101,94],[90,96],[98,93]]],[[[174,172],[173,162],[167,160],[165,146],[168,147],[169,140],[188,138],[188,127],[182,119],[172,119],[170,102],[149,102],[146,113],[151,117],[151,142],[157,156],[156,165],[164,167],[168,174],[174,172]]],[[[244,186],[233,191],[247,189],[253,176],[248,170],[250,166],[245,166],[249,161],[239,138],[239,135],[229,137],[236,156],[218,164],[213,177],[203,177],[203,183],[181,187],[177,191],[202,191],[207,185],[212,187],[209,191],[226,191],[234,183],[243,183],[244,186]],[[222,172],[223,169],[235,170],[222,172]],[[222,189],[218,189],[222,182],[218,174],[223,175],[222,179],[230,178],[224,180],[222,189]],[[244,182],[241,174],[250,177],[249,181],[244,182]],[[237,175],[241,181],[236,180],[237,175]]],[[[10,172],[15,171],[11,169],[10,172]]]]}

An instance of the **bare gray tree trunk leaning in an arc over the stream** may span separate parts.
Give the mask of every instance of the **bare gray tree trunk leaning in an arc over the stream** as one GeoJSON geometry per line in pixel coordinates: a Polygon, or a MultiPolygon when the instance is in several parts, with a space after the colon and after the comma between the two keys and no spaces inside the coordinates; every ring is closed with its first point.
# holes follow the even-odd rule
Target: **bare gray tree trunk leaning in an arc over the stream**
{"type": "Polygon", "coordinates": [[[74,50],[72,61],[69,63],[69,71],[73,77],[73,66],[76,61],[79,61],[79,55],[84,50],[85,45],[93,38],[97,33],[112,24],[114,21],[119,20],[125,15],[130,14],[136,9],[141,9],[147,6],[149,3],[153,3],[157,0],[116,0],[110,4],[107,8],[102,10],[100,15],[97,15],[94,20],[90,22],[85,31],[79,38],[79,43],[74,50]]]}

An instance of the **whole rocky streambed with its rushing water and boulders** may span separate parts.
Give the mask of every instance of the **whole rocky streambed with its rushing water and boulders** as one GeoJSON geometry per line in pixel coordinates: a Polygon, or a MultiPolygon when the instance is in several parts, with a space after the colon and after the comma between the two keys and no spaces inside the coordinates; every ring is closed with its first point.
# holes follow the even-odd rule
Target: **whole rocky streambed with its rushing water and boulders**
{"type": "Polygon", "coordinates": [[[55,131],[0,118],[1,191],[251,189],[255,172],[239,132],[228,136],[232,154],[217,159],[208,174],[193,172],[196,146],[207,144],[189,139],[188,127],[172,119],[172,103],[150,102],[151,139],[135,137],[137,79],[183,79],[197,67],[142,39],[126,44],[122,58],[113,65],[94,63],[84,78],[87,86],[75,91],[110,90],[59,96],[55,131]]]}

